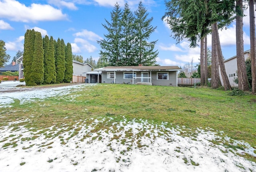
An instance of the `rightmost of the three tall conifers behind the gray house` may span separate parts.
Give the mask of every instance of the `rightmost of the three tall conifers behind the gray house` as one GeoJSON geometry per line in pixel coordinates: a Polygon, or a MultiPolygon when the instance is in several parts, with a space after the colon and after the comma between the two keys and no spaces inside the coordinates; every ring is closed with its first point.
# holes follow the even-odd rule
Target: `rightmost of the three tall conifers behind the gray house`
{"type": "Polygon", "coordinates": [[[142,2],[139,2],[138,9],[135,14],[135,47],[136,63],[143,64],[144,66],[151,66],[156,63],[156,57],[158,56],[158,50],[154,51],[154,46],[157,42],[149,42],[150,34],[152,34],[156,27],[151,25],[153,17],[148,19],[148,13],[142,2]]]}

